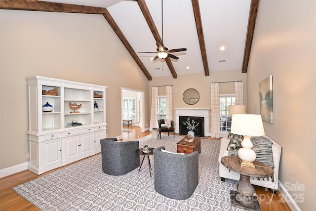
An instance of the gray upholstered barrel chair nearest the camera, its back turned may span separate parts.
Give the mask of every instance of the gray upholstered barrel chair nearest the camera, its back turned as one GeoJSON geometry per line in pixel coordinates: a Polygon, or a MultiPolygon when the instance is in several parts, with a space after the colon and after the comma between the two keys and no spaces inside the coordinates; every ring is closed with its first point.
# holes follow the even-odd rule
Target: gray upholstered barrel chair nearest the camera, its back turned
{"type": "Polygon", "coordinates": [[[155,148],[155,190],[171,199],[188,199],[198,184],[198,152],[187,155],[161,152],[155,148]]]}

